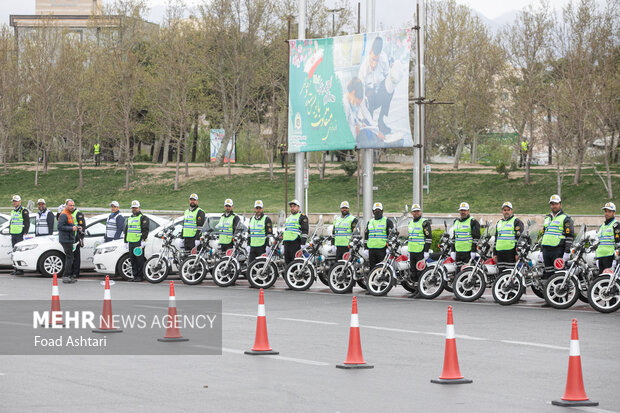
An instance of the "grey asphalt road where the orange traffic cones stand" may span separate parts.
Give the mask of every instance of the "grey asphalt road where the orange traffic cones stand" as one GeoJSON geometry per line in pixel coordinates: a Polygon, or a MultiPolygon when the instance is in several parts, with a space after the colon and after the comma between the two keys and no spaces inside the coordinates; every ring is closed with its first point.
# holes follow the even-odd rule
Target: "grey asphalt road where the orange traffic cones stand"
{"type": "MultiPolygon", "coordinates": [[[[100,300],[101,277],[60,285],[62,300],[100,300]]],[[[213,412],[524,412],[620,411],[620,313],[599,314],[578,303],[542,308],[531,293],[511,307],[485,295],[461,303],[450,294],[427,301],[401,287],[387,297],[359,288],[362,349],[368,370],[341,370],[347,353],[351,295],[323,285],[265,291],[269,342],[278,356],[247,356],[254,342],[258,292],[243,280],[219,288],[185,286],[183,300],[222,300],[222,355],[0,355],[0,411],[213,412]],[[460,369],[472,384],[437,385],[447,306],[452,305],[460,369]],[[564,394],[571,320],[579,321],[585,388],[596,408],[550,405],[564,394]]],[[[113,300],[167,300],[168,284],[117,282],[113,300]]],[[[7,300],[49,300],[51,280],[0,273],[0,309],[7,300]]],[[[165,306],[166,301],[162,301],[165,306]]],[[[0,337],[2,340],[2,337],[0,337]]],[[[199,346],[191,340],[173,345],[199,346]]],[[[1,349],[1,343],[0,343],[1,349]]],[[[206,349],[205,349],[206,352],[206,349]]]]}

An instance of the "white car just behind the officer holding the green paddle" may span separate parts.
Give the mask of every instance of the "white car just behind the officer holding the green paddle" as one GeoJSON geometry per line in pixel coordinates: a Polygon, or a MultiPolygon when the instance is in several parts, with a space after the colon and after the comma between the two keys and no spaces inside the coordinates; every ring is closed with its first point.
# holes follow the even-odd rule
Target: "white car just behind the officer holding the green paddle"
{"type": "MultiPolygon", "coordinates": [[[[207,223],[209,228],[215,229],[215,226],[220,220],[221,214],[207,213],[207,223]]],[[[247,226],[249,221],[244,220],[247,226]]],[[[151,231],[146,239],[146,246],[144,247],[144,258],[149,259],[153,255],[158,254],[163,246],[163,240],[161,238],[164,228],[169,225],[174,225],[174,236],[179,236],[183,229],[183,217],[177,217],[174,220],[167,220],[162,223],[161,227],[156,231],[151,231]]],[[[181,244],[177,244],[177,247],[182,248],[181,244]]],[[[133,278],[131,274],[131,262],[129,260],[129,251],[125,246],[123,240],[115,240],[106,242],[99,245],[95,249],[93,256],[93,264],[95,265],[95,271],[102,274],[114,274],[117,277],[122,277],[125,280],[131,280],[133,278]]],[[[178,268],[173,266],[172,272],[178,271],[178,268]]]]}

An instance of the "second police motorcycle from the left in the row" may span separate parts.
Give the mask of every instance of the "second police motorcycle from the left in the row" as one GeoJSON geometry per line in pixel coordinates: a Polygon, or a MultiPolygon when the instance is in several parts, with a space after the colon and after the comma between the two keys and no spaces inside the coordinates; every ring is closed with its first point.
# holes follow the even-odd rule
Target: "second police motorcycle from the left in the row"
{"type": "Polygon", "coordinates": [[[181,264],[179,275],[184,284],[200,284],[213,270],[221,258],[217,238],[217,234],[205,223],[199,247],[194,247],[191,255],[181,264]]]}

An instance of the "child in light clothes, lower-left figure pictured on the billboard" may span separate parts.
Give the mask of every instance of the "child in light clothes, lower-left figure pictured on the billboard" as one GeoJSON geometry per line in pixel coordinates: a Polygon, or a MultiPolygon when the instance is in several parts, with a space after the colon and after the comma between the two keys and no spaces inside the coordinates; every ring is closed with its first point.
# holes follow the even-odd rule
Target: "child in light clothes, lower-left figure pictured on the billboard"
{"type": "Polygon", "coordinates": [[[358,148],[379,148],[385,146],[385,136],[379,130],[368,110],[362,81],[354,77],[349,81],[344,95],[344,107],[349,128],[355,136],[358,148]]]}

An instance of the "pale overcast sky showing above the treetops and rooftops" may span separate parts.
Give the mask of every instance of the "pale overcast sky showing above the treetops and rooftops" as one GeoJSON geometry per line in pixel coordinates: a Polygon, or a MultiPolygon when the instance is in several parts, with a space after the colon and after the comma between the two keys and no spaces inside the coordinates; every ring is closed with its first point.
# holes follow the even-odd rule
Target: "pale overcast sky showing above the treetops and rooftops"
{"type": "MultiPolygon", "coordinates": [[[[110,0],[104,0],[104,3],[110,0]]],[[[348,0],[351,8],[356,10],[358,0],[348,0]]],[[[549,0],[551,7],[561,9],[570,0],[549,0]]],[[[149,20],[160,23],[165,10],[165,0],[147,0],[151,7],[149,20]]],[[[198,0],[186,0],[188,4],[196,4],[198,0]]],[[[365,22],[366,0],[360,0],[362,24],[365,22]]],[[[515,11],[522,10],[529,4],[538,4],[539,0],[457,0],[466,4],[489,20],[497,19],[515,11]]],[[[329,4],[329,1],[327,2],[329,4]]],[[[380,28],[399,28],[413,20],[415,0],[375,0],[375,25],[380,28]]],[[[10,14],[34,14],[35,0],[0,0],[0,25],[9,23],[10,14]]]]}

